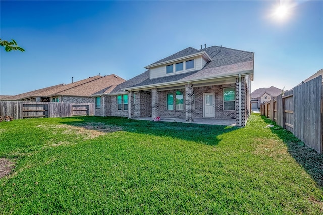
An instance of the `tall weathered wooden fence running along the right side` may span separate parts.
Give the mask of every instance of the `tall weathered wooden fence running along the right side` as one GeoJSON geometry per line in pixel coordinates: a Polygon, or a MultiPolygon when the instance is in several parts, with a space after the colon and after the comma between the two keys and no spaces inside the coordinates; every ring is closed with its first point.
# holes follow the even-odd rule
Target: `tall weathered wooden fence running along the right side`
{"type": "Polygon", "coordinates": [[[261,114],[322,153],[322,76],[302,83],[261,105],[261,114]]]}

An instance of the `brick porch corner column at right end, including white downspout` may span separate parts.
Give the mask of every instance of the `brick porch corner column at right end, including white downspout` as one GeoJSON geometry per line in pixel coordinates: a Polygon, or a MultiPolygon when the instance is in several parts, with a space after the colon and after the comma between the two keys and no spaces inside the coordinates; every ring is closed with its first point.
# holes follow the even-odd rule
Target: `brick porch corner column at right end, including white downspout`
{"type": "Polygon", "coordinates": [[[245,78],[244,77],[236,78],[236,123],[237,123],[237,126],[240,126],[240,127],[246,126],[246,93],[245,92],[246,92],[245,78]],[[241,92],[241,95],[239,94],[239,92],[241,92]],[[240,117],[241,117],[241,124],[240,124],[240,117]]]}

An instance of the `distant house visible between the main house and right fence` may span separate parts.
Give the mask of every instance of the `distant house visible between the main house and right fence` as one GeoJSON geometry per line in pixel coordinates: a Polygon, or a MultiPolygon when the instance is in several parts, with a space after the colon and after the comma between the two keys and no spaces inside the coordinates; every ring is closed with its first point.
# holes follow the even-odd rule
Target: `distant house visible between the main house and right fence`
{"type": "Polygon", "coordinates": [[[272,97],[277,97],[284,91],[274,86],[268,88],[259,88],[251,93],[251,108],[259,109],[260,104],[268,102],[272,97]]]}

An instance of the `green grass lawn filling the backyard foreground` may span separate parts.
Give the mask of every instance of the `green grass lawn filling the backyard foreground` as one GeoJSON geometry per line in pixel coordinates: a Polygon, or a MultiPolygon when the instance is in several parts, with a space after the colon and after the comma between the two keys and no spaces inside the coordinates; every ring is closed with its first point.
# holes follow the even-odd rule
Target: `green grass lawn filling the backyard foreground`
{"type": "Polygon", "coordinates": [[[245,128],[118,117],[0,123],[1,214],[322,214],[323,156],[245,128]]]}

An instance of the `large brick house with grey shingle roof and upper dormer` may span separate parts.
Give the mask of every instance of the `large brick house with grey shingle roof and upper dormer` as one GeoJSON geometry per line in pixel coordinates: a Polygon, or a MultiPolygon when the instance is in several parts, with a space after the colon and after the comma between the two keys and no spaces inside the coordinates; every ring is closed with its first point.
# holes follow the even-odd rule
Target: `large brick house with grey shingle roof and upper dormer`
{"type": "Polygon", "coordinates": [[[105,96],[104,115],[185,117],[187,122],[235,119],[237,126],[245,126],[253,65],[253,52],[186,48],[146,66],[147,71],[112,90],[105,96]]]}

